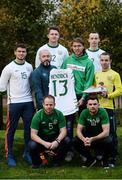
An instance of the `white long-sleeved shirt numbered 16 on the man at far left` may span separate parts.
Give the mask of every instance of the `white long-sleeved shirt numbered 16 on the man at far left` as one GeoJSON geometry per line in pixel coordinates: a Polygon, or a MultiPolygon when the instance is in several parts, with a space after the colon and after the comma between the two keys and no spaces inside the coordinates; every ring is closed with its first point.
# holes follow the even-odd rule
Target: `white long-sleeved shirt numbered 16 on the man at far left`
{"type": "Polygon", "coordinates": [[[6,91],[8,104],[32,101],[29,78],[33,71],[32,65],[25,62],[17,64],[12,61],[2,71],[0,91],[6,91]]]}

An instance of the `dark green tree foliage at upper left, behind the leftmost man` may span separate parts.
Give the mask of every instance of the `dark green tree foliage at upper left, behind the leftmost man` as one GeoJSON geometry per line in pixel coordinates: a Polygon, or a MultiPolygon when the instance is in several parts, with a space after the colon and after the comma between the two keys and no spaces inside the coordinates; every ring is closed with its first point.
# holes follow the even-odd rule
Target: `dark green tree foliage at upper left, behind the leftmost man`
{"type": "Polygon", "coordinates": [[[48,0],[0,1],[0,70],[13,58],[16,43],[26,43],[28,59],[33,63],[35,52],[46,39],[46,29],[53,23],[55,3],[48,0]]]}

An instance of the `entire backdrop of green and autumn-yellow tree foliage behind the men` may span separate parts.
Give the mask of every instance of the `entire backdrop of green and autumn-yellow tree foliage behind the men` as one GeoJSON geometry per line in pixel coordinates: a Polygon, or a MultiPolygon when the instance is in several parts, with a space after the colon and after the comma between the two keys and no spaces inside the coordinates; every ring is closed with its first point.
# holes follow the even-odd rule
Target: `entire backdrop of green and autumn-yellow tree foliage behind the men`
{"type": "MultiPolygon", "coordinates": [[[[73,37],[98,31],[101,48],[113,54],[113,66],[122,70],[122,3],[119,0],[2,0],[0,1],[0,71],[13,58],[15,43],[24,42],[28,59],[47,41],[46,29],[59,25],[61,41],[70,48],[73,37]],[[60,2],[60,4],[59,4],[60,2]]],[[[122,73],[121,73],[122,74],[122,73]]]]}

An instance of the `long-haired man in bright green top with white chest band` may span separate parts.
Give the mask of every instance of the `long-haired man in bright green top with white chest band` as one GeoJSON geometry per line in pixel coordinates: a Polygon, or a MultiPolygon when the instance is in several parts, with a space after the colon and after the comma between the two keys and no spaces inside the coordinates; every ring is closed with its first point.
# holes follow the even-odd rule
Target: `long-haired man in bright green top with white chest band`
{"type": "Polygon", "coordinates": [[[78,106],[83,109],[86,100],[86,94],[83,91],[93,85],[94,65],[86,54],[84,42],[81,38],[73,39],[72,51],[73,53],[64,61],[62,69],[72,69],[78,106]]]}

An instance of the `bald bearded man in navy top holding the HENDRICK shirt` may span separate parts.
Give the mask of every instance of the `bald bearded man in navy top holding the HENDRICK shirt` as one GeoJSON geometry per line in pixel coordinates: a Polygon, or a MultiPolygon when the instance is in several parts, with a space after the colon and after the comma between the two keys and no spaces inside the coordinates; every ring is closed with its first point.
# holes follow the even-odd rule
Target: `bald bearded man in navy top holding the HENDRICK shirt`
{"type": "Polygon", "coordinates": [[[49,94],[50,71],[55,66],[50,65],[51,54],[47,49],[39,52],[40,65],[31,74],[31,87],[36,98],[37,109],[42,108],[43,97],[49,94]]]}

